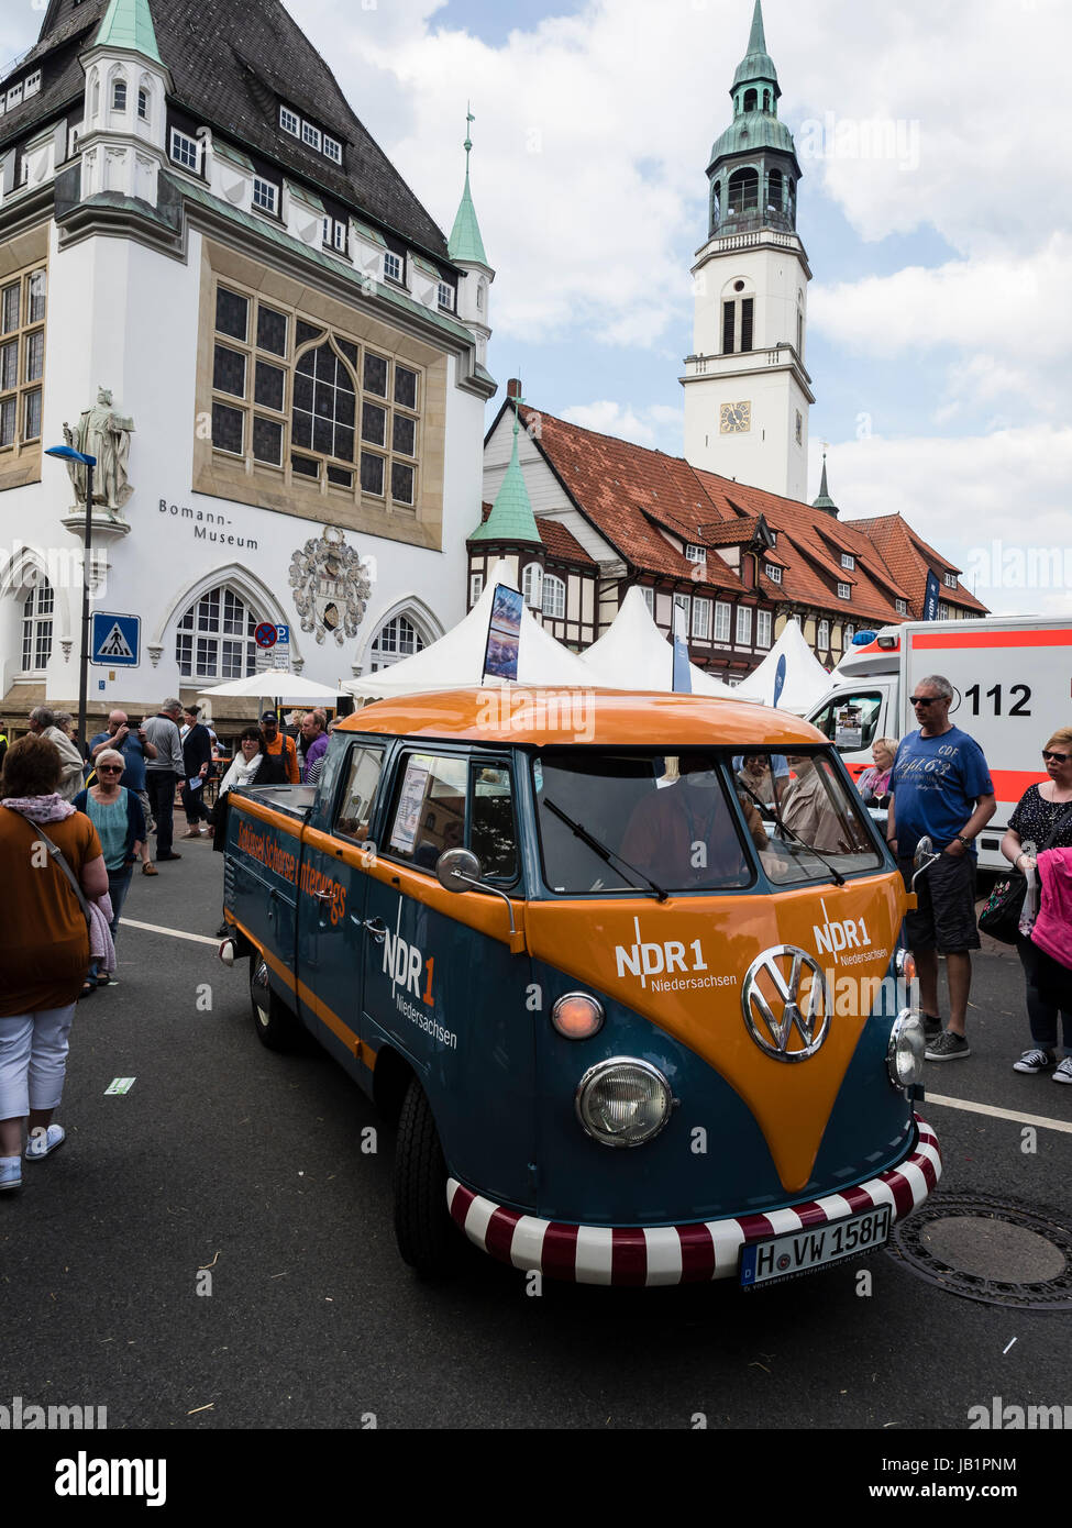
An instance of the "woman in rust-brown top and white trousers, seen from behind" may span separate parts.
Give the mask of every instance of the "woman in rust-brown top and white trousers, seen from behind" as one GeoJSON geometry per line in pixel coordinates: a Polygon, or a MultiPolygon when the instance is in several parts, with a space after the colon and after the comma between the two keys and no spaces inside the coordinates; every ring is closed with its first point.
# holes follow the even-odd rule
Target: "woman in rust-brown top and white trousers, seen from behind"
{"type": "Polygon", "coordinates": [[[23,1181],[23,1122],[28,1161],[64,1141],[52,1115],[89,964],[84,898],[109,889],[96,828],[60,795],[61,773],[55,743],[29,735],[0,779],[0,1189],[23,1181]]]}

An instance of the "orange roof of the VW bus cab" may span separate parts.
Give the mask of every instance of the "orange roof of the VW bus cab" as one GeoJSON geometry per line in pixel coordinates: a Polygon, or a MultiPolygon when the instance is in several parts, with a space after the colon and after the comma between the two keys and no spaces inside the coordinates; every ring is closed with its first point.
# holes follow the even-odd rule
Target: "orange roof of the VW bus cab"
{"type": "Polygon", "coordinates": [[[775,749],[826,744],[786,711],[659,691],[547,689],[526,685],[451,689],[378,700],[339,721],[341,732],[532,747],[775,749]]]}

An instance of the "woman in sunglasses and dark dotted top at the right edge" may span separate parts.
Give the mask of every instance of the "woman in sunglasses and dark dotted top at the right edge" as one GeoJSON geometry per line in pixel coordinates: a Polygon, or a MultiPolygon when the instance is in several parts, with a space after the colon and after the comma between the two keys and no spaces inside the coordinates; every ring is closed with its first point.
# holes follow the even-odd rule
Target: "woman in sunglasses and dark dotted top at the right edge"
{"type": "MultiPolygon", "coordinates": [[[[1035,872],[1035,857],[1025,853],[1023,845],[1043,848],[1072,848],[1072,727],[1058,729],[1043,749],[1046,779],[1031,785],[1020,798],[1009,817],[1009,830],[1002,839],[1002,854],[1023,872],[1035,872]]],[[[1038,993],[1038,966],[1041,952],[1023,934],[1017,938],[1017,952],[1023,966],[1028,998],[1028,1019],[1034,1045],[1014,1071],[1049,1071],[1057,1062],[1057,1015],[1058,1008],[1044,1002],[1038,993]]],[[[1054,1071],[1054,1082],[1072,1083],[1072,1007],[1060,1008],[1064,1030],[1064,1059],[1054,1071]]]]}

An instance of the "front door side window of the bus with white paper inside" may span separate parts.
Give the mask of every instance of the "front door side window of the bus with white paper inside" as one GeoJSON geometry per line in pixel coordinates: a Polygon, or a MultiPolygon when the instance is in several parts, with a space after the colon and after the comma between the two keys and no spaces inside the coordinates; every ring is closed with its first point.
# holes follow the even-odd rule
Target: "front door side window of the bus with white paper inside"
{"type": "Polygon", "coordinates": [[[517,874],[514,792],[505,764],[410,753],[402,761],[385,853],[434,871],[445,850],[468,848],[491,880],[517,874]]]}

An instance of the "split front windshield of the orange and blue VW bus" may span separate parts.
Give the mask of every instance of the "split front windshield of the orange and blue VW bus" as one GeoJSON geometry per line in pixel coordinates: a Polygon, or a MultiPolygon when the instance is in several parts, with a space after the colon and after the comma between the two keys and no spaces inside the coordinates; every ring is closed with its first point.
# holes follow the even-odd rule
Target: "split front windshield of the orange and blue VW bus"
{"type": "Polygon", "coordinates": [[[564,895],[749,886],[749,845],[778,883],[882,863],[821,756],[547,749],[532,782],[544,880],[564,895]]]}

